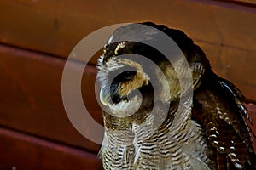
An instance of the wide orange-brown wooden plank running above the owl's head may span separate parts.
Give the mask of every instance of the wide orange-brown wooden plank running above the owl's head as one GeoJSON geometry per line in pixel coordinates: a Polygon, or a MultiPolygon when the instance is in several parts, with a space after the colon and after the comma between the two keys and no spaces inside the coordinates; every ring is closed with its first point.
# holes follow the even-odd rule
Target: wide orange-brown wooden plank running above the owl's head
{"type": "Polygon", "coordinates": [[[76,43],[92,31],[146,20],[182,29],[198,41],[255,52],[255,8],[203,0],[3,0],[0,42],[67,57],[76,43]]]}

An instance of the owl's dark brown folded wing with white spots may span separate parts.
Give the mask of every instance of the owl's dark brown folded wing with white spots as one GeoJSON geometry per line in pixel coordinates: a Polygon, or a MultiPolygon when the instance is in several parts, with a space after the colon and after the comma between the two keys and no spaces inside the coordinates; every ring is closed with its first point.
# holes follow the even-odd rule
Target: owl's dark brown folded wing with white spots
{"type": "Polygon", "coordinates": [[[195,90],[192,116],[205,131],[212,164],[217,169],[256,169],[244,97],[231,82],[201,69],[205,73],[195,90]]]}

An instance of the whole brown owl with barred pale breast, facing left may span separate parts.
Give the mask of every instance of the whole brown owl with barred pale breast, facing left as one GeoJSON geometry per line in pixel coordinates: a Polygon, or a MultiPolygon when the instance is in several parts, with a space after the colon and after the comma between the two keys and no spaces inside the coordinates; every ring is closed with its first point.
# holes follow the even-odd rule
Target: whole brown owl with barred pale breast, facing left
{"type": "Polygon", "coordinates": [[[247,99],[183,31],[119,27],[97,80],[104,169],[256,169],[247,99]]]}

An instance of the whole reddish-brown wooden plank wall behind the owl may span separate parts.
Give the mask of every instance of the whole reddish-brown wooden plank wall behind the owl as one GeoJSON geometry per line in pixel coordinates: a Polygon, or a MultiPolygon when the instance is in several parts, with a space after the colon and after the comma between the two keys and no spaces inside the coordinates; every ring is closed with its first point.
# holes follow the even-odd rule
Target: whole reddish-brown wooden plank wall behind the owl
{"type": "MultiPolygon", "coordinates": [[[[85,139],[67,118],[61,76],[73,47],[103,26],[151,20],[182,29],[203,48],[218,75],[256,101],[255,4],[0,1],[0,169],[102,169],[96,156],[100,145],[85,139]]],[[[82,81],[90,89],[82,94],[91,116],[102,123],[95,77],[96,59],[91,59],[82,81]]],[[[256,123],[256,106],[247,107],[256,123]]]]}

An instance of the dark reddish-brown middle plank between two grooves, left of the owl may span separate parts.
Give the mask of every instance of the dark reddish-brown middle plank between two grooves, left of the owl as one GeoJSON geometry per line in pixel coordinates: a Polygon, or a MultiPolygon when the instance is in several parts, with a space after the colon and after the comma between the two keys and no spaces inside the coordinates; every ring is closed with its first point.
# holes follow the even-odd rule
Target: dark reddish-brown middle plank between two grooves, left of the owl
{"type": "MultiPolygon", "coordinates": [[[[100,145],[85,139],[67,118],[61,99],[64,59],[3,46],[0,56],[2,126],[98,152],[100,145]]],[[[82,84],[89,85],[82,88],[82,94],[91,116],[102,123],[102,111],[93,95],[95,78],[95,67],[88,66],[82,84]]],[[[94,133],[82,121],[84,130],[94,133]]]]}

